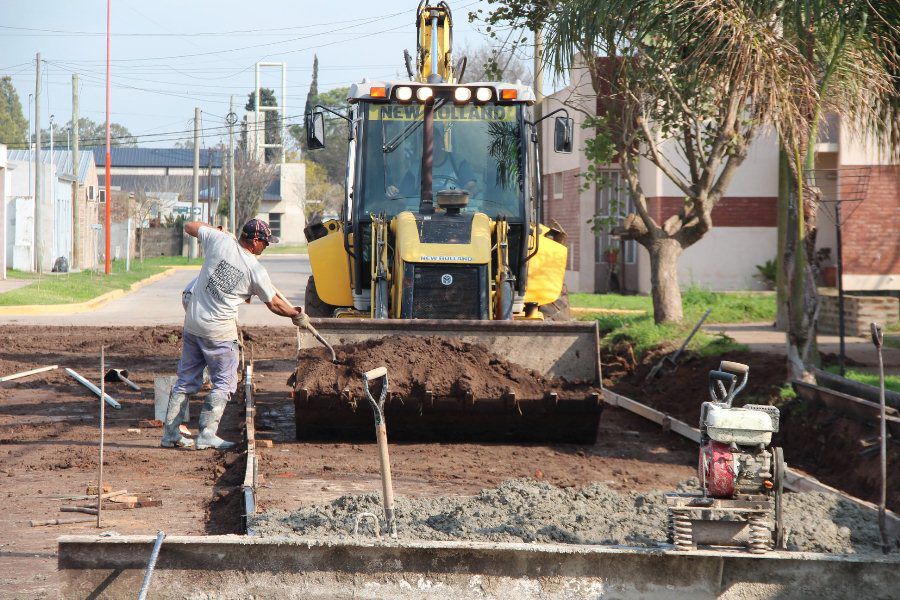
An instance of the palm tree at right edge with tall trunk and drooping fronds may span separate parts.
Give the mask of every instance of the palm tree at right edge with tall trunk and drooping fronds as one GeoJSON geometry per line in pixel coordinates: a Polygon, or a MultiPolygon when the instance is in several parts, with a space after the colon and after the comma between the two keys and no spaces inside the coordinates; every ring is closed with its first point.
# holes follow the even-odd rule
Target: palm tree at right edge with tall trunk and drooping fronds
{"type": "Polygon", "coordinates": [[[804,174],[815,168],[819,124],[840,115],[856,133],[865,133],[900,153],[900,5],[896,1],[811,0],[786,2],[779,9],[783,39],[793,46],[815,81],[814,101],[794,115],[782,135],[782,173],[790,186],[779,198],[782,271],[778,291],[785,306],[788,369],[792,378],[811,379],[818,296],[809,257],[815,253],[815,216],[820,198],[804,174]],[[789,194],[796,196],[790,210],[789,194]]]}

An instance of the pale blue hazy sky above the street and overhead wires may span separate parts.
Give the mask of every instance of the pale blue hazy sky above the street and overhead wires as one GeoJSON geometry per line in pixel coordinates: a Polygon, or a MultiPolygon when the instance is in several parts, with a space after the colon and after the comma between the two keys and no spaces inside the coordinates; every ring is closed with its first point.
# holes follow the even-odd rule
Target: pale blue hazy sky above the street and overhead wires
{"type": "MultiPolygon", "coordinates": [[[[287,63],[289,123],[299,122],[319,57],[319,90],[368,79],[405,76],[403,50],[416,45],[416,0],[112,0],[111,120],[140,145],[165,147],[192,139],[194,107],[202,110],[204,144],[217,145],[229,98],[242,114],[254,89],[255,63],[287,63]]],[[[483,0],[451,0],[454,54],[496,45],[469,11],[483,0]]],[[[0,76],[11,75],[23,111],[35,90],[41,53],[42,126],[71,118],[72,73],[80,78],[80,113],[105,119],[106,2],[0,0],[0,76]]],[[[521,57],[531,64],[531,48],[521,57]]],[[[262,85],[280,96],[279,69],[262,85]]],[[[553,82],[545,83],[549,93],[553,82]]],[[[33,116],[33,115],[32,115],[33,116]]]]}

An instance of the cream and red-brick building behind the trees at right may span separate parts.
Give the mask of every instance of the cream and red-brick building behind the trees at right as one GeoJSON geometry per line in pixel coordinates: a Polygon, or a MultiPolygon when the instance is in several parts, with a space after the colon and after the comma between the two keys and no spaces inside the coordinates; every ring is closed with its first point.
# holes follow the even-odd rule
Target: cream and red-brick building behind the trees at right
{"type": "MultiPolygon", "coordinates": [[[[572,107],[596,114],[598,104],[585,68],[573,69],[569,85],[544,101],[543,114],[569,107],[575,119],[574,151],[543,155],[544,217],[558,221],[569,234],[566,283],[570,291],[604,292],[617,287],[605,257],[606,250],[614,247],[619,249],[615,279],[621,289],[646,294],[650,292],[647,251],[634,241],[623,243],[606,232],[595,235],[589,223],[594,215],[616,218],[634,212],[617,163],[603,170],[605,185],[584,189],[579,177],[588,167],[584,144],[592,132],[581,128],[584,116],[572,107]]],[[[553,120],[547,119],[542,125],[543,139],[552,140],[553,120]]],[[[683,163],[673,148],[662,148],[671,153],[674,164],[683,163]]],[[[832,187],[847,195],[850,173],[865,172],[868,177],[868,185],[861,186],[865,189],[857,194],[861,201],[844,204],[848,218],[842,228],[843,280],[847,290],[900,291],[900,165],[886,164],[884,154],[871,141],[855,139],[846,124],[836,118],[828,119],[821,130],[816,165],[821,178],[834,179],[832,187]]],[[[681,191],[655,165],[641,159],[639,176],[648,210],[657,223],[678,211],[681,191]]],[[[777,253],[778,177],[778,139],[773,132],[763,132],[751,144],[746,160],[713,210],[713,228],[679,259],[678,277],[683,287],[764,288],[756,267],[775,259],[777,253]]],[[[828,196],[828,184],[820,185],[828,196]]],[[[833,264],[836,239],[832,213],[833,204],[824,203],[817,246],[829,249],[833,264]]]]}

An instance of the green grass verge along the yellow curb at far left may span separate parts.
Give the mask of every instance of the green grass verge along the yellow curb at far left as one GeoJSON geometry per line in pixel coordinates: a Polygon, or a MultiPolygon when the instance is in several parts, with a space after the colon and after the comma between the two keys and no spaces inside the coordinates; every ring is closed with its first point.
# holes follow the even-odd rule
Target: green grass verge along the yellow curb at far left
{"type": "Polygon", "coordinates": [[[27,304],[73,304],[86,302],[97,296],[131,287],[170,266],[201,264],[200,260],[189,260],[183,256],[161,256],[147,258],[144,262],[131,261],[131,270],[125,271],[125,261],[112,263],[112,273],[102,271],[81,271],[79,273],[25,273],[10,269],[11,279],[31,279],[32,283],[0,294],[0,306],[22,306],[27,304]]]}

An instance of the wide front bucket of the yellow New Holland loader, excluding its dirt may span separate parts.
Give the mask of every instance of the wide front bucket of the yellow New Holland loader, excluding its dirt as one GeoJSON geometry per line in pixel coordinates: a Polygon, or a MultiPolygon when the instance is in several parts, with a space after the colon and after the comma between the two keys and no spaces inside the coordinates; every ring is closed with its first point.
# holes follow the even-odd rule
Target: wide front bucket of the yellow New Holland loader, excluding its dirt
{"type": "MultiPolygon", "coordinates": [[[[477,343],[548,379],[579,382],[571,393],[494,398],[391,396],[385,419],[391,440],[594,443],[603,408],[596,323],[462,321],[427,319],[314,319],[335,347],[386,336],[445,337],[477,343]]],[[[303,348],[316,340],[302,336],[303,348]]],[[[303,365],[294,385],[297,439],[359,440],[373,437],[372,413],[359,390],[316,396],[303,387],[303,365]]]]}

